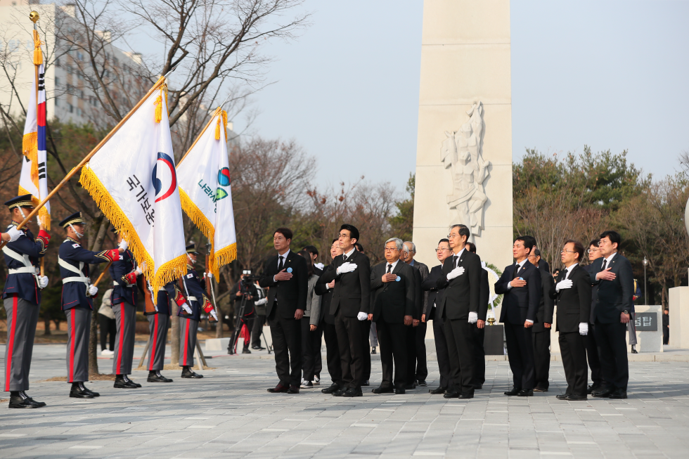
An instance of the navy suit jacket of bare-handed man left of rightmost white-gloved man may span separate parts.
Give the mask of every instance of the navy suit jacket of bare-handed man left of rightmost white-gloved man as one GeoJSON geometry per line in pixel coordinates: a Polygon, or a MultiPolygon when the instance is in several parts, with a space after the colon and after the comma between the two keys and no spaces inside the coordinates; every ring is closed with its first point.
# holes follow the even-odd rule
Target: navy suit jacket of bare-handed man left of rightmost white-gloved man
{"type": "Polygon", "coordinates": [[[523,325],[524,321],[529,319],[536,323],[539,320],[536,313],[539,311],[541,295],[543,295],[541,271],[527,260],[522,269],[516,273],[518,276],[515,276],[515,266],[517,264],[507,266],[503,275],[495,283],[495,292],[498,295],[505,295],[500,311],[500,321],[523,325]],[[527,281],[527,285],[508,288],[508,283],[515,277],[523,278],[527,281]]]}

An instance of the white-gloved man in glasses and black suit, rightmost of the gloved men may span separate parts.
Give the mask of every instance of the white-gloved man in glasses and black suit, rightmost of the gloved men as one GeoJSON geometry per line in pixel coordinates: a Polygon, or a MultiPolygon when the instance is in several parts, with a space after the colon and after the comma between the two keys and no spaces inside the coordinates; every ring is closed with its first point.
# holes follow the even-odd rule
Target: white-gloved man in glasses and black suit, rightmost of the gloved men
{"type": "Polygon", "coordinates": [[[591,277],[579,263],[584,258],[584,246],[567,240],[560,254],[565,270],[560,271],[558,283],[550,287],[548,297],[558,302],[558,327],[562,366],[565,367],[567,391],[560,400],[586,400],[586,342],[588,316],[591,313],[591,277]]]}

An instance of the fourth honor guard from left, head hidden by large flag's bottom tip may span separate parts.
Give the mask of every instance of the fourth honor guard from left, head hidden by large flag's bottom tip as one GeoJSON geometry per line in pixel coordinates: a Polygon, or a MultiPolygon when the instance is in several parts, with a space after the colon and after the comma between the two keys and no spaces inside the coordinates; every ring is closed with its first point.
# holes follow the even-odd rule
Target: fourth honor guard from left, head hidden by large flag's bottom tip
{"type": "MultiPolygon", "coordinates": [[[[150,285],[146,285],[150,288],[150,285]]],[[[155,300],[155,312],[148,315],[148,330],[150,330],[150,347],[148,347],[148,382],[172,382],[171,379],[160,374],[165,366],[165,344],[167,343],[167,328],[170,325],[172,309],[170,302],[177,306],[183,305],[191,311],[186,298],[179,291],[175,281],[160,287],[155,300]]]]}

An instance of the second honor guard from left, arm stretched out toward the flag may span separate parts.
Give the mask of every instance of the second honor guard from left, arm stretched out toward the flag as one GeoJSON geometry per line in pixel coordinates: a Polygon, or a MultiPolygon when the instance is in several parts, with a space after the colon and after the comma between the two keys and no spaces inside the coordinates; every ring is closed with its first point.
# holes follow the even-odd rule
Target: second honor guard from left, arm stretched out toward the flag
{"type": "Polygon", "coordinates": [[[62,277],[62,309],[67,316],[67,382],[72,383],[70,397],[93,399],[97,392],[84,387],[89,380],[89,335],[91,334],[91,311],[93,298],[98,287],[91,284],[89,264],[117,261],[127,250],[127,243],[120,244],[120,250],[91,252],[82,247],[86,222],[82,213],[76,212],[60,221],[67,231],[67,239],[60,245],[58,264],[62,277]]]}

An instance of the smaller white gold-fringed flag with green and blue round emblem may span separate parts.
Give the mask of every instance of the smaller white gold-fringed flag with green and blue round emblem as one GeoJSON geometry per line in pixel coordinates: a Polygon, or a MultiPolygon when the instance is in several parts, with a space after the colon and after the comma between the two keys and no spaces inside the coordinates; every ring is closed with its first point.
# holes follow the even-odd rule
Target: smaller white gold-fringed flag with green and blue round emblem
{"type": "Polygon", "coordinates": [[[182,209],[211,241],[210,269],[216,279],[220,267],[237,258],[228,166],[227,112],[218,107],[177,166],[182,209]]]}

